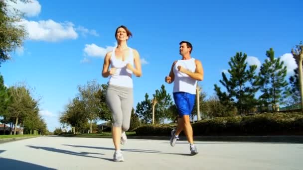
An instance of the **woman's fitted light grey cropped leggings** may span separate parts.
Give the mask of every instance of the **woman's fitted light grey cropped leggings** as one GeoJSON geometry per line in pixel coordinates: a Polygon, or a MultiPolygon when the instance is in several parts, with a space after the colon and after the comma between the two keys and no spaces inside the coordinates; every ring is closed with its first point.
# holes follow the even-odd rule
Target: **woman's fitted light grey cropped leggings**
{"type": "Polygon", "coordinates": [[[122,131],[130,128],[133,102],[133,88],[108,85],[106,103],[112,112],[114,127],[122,127],[122,131]]]}

